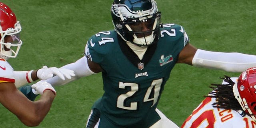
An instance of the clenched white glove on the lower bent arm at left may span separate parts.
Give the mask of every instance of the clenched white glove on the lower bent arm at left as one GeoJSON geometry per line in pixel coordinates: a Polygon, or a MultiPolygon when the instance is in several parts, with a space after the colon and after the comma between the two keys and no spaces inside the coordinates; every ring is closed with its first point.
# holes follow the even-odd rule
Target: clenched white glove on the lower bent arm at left
{"type": "Polygon", "coordinates": [[[48,82],[46,82],[46,81],[39,81],[39,82],[37,82],[36,84],[33,84],[32,86],[31,86],[31,88],[32,88],[32,92],[34,93],[34,94],[40,94],[40,95],[42,95],[43,93],[44,93],[44,91],[45,90],[51,90],[52,92],[54,92],[54,94],[56,94],[56,91],[55,91],[55,89],[52,87],[52,85],[51,84],[49,84],[48,82]]]}

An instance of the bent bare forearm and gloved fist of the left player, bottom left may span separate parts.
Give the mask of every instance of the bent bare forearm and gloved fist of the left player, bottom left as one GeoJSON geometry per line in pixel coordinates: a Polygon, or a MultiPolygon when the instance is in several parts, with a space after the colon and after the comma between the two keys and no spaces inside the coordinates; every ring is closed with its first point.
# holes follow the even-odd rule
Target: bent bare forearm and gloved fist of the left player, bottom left
{"type": "Polygon", "coordinates": [[[49,87],[50,84],[43,88],[44,84],[37,88],[42,96],[38,101],[32,102],[16,89],[14,83],[0,83],[0,102],[26,126],[38,126],[50,110],[56,95],[55,90],[49,87]]]}

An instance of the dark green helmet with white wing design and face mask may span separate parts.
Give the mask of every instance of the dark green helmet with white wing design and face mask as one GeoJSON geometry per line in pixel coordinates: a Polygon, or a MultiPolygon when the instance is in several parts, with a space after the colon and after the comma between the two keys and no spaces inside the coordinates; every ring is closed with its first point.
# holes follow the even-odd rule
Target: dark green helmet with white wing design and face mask
{"type": "Polygon", "coordinates": [[[154,0],[115,0],[111,15],[116,32],[126,42],[148,46],[158,40],[161,13],[154,0]]]}

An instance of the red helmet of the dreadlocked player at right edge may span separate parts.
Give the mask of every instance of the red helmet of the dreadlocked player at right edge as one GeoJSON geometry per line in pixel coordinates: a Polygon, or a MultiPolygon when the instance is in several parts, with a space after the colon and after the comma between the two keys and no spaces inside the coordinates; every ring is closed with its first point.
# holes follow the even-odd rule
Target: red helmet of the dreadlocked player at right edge
{"type": "Polygon", "coordinates": [[[240,74],[233,92],[242,109],[256,121],[256,67],[240,74]]]}

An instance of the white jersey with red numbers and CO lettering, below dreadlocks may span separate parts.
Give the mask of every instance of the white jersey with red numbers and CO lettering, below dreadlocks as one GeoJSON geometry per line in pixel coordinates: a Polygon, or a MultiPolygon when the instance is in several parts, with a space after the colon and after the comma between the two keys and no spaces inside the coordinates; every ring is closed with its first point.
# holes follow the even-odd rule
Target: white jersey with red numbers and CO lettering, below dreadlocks
{"type": "Polygon", "coordinates": [[[215,98],[207,97],[185,120],[181,128],[256,128],[256,123],[242,111],[213,108],[215,98]]]}

